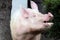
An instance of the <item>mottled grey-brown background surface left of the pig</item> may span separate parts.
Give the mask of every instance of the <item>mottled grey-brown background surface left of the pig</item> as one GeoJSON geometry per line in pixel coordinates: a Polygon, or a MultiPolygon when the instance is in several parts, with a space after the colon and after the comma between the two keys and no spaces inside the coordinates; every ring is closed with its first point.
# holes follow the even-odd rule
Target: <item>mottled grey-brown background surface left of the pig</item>
{"type": "Polygon", "coordinates": [[[11,0],[0,0],[0,40],[12,40],[10,35],[11,0]]]}

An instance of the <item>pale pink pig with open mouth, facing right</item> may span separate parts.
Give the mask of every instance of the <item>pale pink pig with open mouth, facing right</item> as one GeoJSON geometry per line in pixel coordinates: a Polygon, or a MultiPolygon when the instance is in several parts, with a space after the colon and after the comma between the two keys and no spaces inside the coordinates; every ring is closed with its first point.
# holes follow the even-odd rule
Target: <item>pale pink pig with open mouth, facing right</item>
{"type": "Polygon", "coordinates": [[[13,40],[40,40],[41,31],[50,29],[53,25],[48,22],[53,15],[42,14],[35,2],[31,1],[31,8],[20,7],[11,15],[10,28],[13,40]]]}

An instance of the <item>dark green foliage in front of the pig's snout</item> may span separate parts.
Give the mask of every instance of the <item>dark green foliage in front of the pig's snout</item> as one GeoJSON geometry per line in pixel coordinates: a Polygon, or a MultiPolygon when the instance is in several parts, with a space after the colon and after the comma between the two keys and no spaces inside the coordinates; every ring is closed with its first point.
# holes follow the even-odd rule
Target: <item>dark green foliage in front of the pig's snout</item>
{"type": "Polygon", "coordinates": [[[43,0],[43,5],[46,6],[47,12],[52,12],[54,15],[54,25],[47,32],[48,37],[60,38],[60,0],[43,0]]]}

